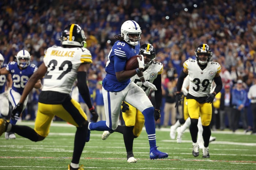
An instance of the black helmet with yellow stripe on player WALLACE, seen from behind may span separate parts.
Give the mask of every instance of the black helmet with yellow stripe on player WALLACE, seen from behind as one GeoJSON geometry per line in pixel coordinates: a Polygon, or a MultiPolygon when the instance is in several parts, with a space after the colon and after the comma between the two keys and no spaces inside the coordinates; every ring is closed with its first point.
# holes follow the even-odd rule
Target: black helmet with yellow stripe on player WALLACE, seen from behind
{"type": "Polygon", "coordinates": [[[83,47],[86,43],[86,36],[83,29],[78,24],[70,24],[64,29],[61,35],[61,44],[63,46],[83,47]]]}

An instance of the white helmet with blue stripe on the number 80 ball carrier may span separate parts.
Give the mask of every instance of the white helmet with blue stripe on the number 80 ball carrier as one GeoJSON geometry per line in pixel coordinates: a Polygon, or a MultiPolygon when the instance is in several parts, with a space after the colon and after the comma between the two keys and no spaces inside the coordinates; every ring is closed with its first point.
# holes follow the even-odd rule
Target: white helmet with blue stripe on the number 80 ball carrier
{"type": "Polygon", "coordinates": [[[132,46],[137,46],[139,44],[141,33],[142,31],[140,29],[140,25],[135,21],[125,21],[121,26],[121,37],[123,37],[124,41],[126,41],[128,44],[132,46]],[[131,34],[137,35],[138,38],[129,37],[129,35],[131,34]]]}

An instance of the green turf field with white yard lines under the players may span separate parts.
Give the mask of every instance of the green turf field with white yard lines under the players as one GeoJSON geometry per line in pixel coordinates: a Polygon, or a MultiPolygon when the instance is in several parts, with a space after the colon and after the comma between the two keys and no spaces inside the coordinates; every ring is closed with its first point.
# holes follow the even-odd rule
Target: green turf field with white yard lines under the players
{"type": "MultiPolygon", "coordinates": [[[[33,122],[19,122],[29,124],[33,122]]],[[[16,135],[15,140],[0,137],[0,169],[61,170],[67,169],[73,152],[75,127],[54,122],[49,136],[41,142],[31,142],[16,135]]],[[[134,140],[133,152],[137,163],[127,163],[123,135],[113,133],[102,141],[102,132],[92,131],[86,143],[80,164],[84,169],[185,169],[185,170],[256,170],[256,135],[235,134],[230,131],[212,131],[216,141],[210,143],[210,158],[192,155],[192,142],[188,131],[182,143],[171,140],[169,129],[157,129],[157,146],[169,153],[165,159],[150,160],[146,131],[134,140]]]]}

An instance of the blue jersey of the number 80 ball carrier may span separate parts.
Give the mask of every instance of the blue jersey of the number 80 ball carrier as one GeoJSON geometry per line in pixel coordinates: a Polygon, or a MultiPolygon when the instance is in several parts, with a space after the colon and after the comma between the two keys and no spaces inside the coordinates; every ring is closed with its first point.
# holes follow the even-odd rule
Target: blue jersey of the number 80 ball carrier
{"type": "Polygon", "coordinates": [[[122,82],[118,82],[116,78],[116,72],[125,70],[125,63],[132,56],[138,55],[140,51],[140,44],[137,46],[130,46],[125,41],[116,41],[109,52],[108,61],[106,63],[106,77],[102,81],[102,86],[105,90],[111,92],[118,92],[123,90],[129,82],[130,79],[124,80],[122,82]],[[119,58],[119,61],[123,61],[123,63],[115,63],[115,58],[119,58]]]}

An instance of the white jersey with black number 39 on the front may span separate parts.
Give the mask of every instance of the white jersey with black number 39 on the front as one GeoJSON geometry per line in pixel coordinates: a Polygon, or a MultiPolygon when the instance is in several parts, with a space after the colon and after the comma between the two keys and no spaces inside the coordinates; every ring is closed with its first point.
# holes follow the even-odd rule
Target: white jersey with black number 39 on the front
{"type": "Polygon", "coordinates": [[[208,62],[206,68],[201,70],[196,60],[186,60],[183,67],[189,74],[189,94],[195,97],[210,94],[212,81],[221,72],[221,66],[217,62],[208,62]]]}

